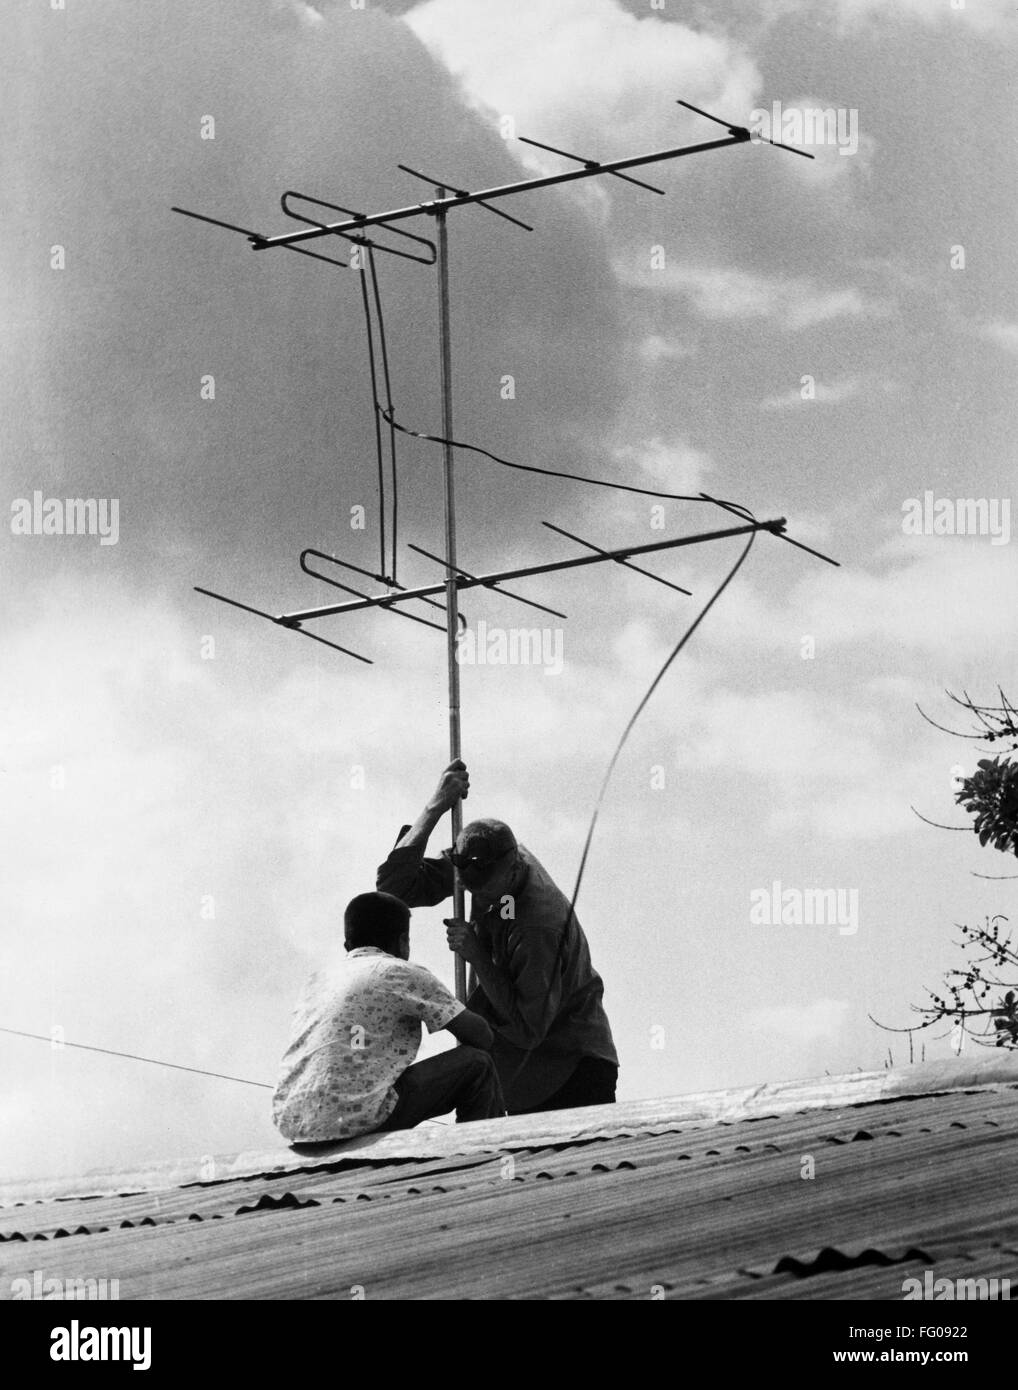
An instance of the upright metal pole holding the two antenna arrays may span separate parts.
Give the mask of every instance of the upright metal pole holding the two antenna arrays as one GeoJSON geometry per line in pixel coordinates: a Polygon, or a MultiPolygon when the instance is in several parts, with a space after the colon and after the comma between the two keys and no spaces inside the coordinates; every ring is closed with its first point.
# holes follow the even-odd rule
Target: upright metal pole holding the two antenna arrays
{"type": "MultiPolygon", "coordinates": [[[[441,202],[445,189],[437,188],[435,197],[441,202]]],[[[435,213],[438,224],[438,332],[441,339],[442,364],[442,446],[445,456],[445,645],[449,664],[449,762],[460,756],[459,737],[459,662],[456,660],[456,634],[459,632],[458,588],[456,588],[456,481],[453,475],[455,459],[452,453],[452,343],[449,334],[449,240],[445,225],[446,210],[439,207],[435,213]]],[[[452,842],[459,840],[463,828],[463,803],[456,802],[452,808],[452,842]]],[[[452,880],[452,915],[464,917],[463,883],[459,869],[453,869],[452,880]]],[[[455,956],[456,966],[456,998],[466,1004],[466,960],[455,956]]]]}

